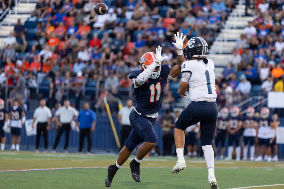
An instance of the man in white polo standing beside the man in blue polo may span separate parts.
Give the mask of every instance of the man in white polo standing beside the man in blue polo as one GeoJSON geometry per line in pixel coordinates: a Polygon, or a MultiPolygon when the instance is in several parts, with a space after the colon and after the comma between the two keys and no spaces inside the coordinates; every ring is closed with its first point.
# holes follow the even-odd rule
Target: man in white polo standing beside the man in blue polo
{"type": "Polygon", "coordinates": [[[55,120],[57,122],[58,127],[58,132],[57,132],[57,136],[55,139],[55,143],[53,146],[53,152],[55,152],[55,149],[57,147],[57,144],[60,140],[61,134],[63,133],[63,131],[65,131],[65,146],[64,146],[64,150],[67,153],[67,147],[68,147],[68,142],[69,142],[69,133],[70,133],[70,124],[73,120],[77,119],[77,116],[79,115],[79,112],[70,106],[70,101],[69,100],[64,100],[64,106],[62,106],[61,108],[59,108],[56,112],[55,112],[55,120]],[[58,120],[58,116],[59,116],[59,120],[58,120]]]}

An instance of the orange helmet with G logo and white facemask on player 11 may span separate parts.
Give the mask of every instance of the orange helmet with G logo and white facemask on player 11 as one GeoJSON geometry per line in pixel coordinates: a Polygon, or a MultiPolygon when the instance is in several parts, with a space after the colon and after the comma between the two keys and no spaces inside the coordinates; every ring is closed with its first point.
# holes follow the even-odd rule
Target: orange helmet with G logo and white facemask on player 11
{"type": "MultiPolygon", "coordinates": [[[[153,52],[146,52],[145,54],[143,54],[143,56],[141,57],[140,63],[141,63],[141,68],[142,71],[144,71],[148,66],[150,66],[154,60],[156,58],[156,54],[153,52]]],[[[160,76],[161,74],[161,63],[159,63],[158,67],[158,71],[153,71],[153,73],[151,74],[150,78],[152,79],[156,79],[160,76]]]]}

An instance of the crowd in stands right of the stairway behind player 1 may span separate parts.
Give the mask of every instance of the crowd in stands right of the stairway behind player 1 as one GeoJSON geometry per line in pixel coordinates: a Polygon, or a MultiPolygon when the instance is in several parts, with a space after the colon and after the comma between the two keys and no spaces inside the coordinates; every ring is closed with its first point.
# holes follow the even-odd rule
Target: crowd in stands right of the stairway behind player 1
{"type": "Polygon", "coordinates": [[[230,107],[248,98],[252,86],[260,86],[260,95],[283,91],[284,5],[281,1],[261,0],[256,14],[243,30],[241,38],[216,81],[221,106],[230,107]]]}

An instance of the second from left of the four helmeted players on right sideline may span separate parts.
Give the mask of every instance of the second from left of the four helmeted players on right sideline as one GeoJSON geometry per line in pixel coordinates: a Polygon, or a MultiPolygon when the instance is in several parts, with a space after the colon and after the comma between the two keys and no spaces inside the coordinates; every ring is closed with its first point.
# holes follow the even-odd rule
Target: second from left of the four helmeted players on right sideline
{"type": "Polygon", "coordinates": [[[240,116],[240,110],[238,107],[234,106],[230,109],[229,124],[227,130],[229,133],[229,147],[228,147],[228,157],[227,160],[232,160],[232,155],[234,151],[233,144],[235,143],[236,147],[236,160],[241,160],[241,146],[240,146],[240,137],[241,137],[241,128],[243,122],[240,116]]]}

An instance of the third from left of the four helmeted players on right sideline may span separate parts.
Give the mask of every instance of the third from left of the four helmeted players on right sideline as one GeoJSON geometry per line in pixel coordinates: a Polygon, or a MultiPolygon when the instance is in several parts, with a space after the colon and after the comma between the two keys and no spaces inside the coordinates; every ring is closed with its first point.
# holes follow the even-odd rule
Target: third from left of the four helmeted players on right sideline
{"type": "Polygon", "coordinates": [[[243,160],[247,159],[247,152],[248,152],[248,143],[250,143],[250,160],[254,161],[254,141],[256,137],[256,118],[254,118],[254,108],[248,107],[247,111],[245,113],[246,117],[243,122],[243,136],[244,136],[244,142],[245,146],[243,148],[243,160]]]}

